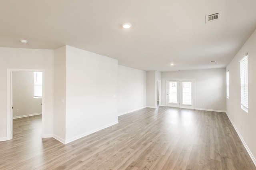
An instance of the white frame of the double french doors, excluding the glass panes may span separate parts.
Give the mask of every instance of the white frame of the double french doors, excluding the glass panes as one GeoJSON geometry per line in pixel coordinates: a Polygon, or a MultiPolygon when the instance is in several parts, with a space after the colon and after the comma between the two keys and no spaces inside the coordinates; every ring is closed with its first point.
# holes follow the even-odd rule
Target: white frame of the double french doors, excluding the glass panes
{"type": "MultiPolygon", "coordinates": [[[[168,93],[168,85],[167,85],[167,83],[168,83],[168,81],[177,81],[180,85],[179,85],[179,92],[180,92],[180,94],[179,94],[179,107],[178,108],[184,108],[184,109],[195,109],[195,105],[196,105],[196,80],[195,79],[173,79],[173,80],[166,80],[166,106],[168,106],[168,100],[167,100],[167,97],[168,97],[168,95],[167,95],[167,93],[168,93]],[[182,90],[181,90],[181,88],[182,88],[182,82],[184,82],[184,81],[192,81],[193,82],[193,89],[192,89],[192,91],[194,92],[194,94],[192,94],[193,95],[193,97],[191,98],[192,99],[192,106],[190,106],[190,105],[188,105],[188,106],[186,106],[186,105],[182,105],[181,104],[181,100],[182,100],[182,90]]],[[[192,93],[193,93],[192,92],[192,93]]],[[[172,106],[172,107],[175,107],[175,106],[172,106]]]]}

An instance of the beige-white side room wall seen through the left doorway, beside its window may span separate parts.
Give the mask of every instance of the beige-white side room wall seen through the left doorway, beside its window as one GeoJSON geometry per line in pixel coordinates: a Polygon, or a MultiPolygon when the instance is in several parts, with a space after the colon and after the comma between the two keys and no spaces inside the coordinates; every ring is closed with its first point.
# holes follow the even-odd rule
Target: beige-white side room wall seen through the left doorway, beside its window
{"type": "Polygon", "coordinates": [[[14,118],[42,114],[42,97],[34,98],[33,71],[12,72],[12,101],[14,118]]]}

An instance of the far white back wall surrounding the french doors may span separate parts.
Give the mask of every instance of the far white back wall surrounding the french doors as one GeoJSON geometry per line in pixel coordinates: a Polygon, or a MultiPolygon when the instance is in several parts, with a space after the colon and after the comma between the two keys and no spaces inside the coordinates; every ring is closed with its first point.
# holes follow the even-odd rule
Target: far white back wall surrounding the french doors
{"type": "Polygon", "coordinates": [[[226,111],[226,72],[221,69],[162,72],[162,104],[166,105],[166,80],[195,79],[195,108],[226,111]]]}

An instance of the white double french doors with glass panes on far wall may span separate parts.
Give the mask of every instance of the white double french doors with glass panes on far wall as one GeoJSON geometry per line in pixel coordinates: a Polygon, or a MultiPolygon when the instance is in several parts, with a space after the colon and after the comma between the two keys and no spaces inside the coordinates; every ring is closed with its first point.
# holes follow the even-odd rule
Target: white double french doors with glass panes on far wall
{"type": "Polygon", "coordinates": [[[194,80],[167,80],[167,106],[194,109],[194,80]]]}

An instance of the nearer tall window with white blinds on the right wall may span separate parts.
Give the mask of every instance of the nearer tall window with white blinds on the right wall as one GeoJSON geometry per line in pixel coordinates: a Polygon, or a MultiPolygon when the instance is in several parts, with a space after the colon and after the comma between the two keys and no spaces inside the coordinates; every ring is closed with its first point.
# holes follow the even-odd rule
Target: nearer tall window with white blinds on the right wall
{"type": "Polygon", "coordinates": [[[241,108],[248,113],[248,56],[240,61],[241,108]]]}

